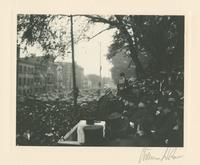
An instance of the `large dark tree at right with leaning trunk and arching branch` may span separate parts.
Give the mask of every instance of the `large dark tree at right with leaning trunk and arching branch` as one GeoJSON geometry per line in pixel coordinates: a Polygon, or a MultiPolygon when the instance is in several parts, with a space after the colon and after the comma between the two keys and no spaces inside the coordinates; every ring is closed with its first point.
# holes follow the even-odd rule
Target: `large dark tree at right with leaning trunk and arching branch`
{"type": "MultiPolygon", "coordinates": [[[[181,16],[137,16],[137,15],[86,15],[94,23],[108,24],[117,28],[113,49],[126,49],[133,60],[138,78],[145,76],[139,55],[150,55],[148,69],[159,73],[168,72],[183,59],[184,17],[181,16]]],[[[115,56],[114,53],[109,58],[115,56]]],[[[182,60],[183,61],[183,60],[182,60]]]]}

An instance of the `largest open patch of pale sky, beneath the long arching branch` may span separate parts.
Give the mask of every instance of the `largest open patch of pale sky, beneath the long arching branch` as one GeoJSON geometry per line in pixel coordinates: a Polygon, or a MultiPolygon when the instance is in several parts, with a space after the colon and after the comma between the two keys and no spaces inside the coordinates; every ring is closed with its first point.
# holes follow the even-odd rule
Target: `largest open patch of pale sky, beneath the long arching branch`
{"type": "Polygon", "coordinates": [[[85,74],[100,74],[100,57],[102,76],[111,77],[112,64],[106,59],[108,47],[112,43],[113,30],[108,30],[93,38],[89,42],[82,42],[75,46],[75,56],[78,64],[84,67],[85,74]]]}

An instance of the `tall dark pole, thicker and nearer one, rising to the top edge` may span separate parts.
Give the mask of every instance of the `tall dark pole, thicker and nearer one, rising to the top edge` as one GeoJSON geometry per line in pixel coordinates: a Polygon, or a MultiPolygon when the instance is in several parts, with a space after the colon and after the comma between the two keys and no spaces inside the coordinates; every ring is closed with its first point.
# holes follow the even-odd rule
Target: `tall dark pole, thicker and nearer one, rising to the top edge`
{"type": "Polygon", "coordinates": [[[70,15],[71,20],[71,49],[72,49],[72,77],[73,77],[73,97],[74,105],[77,105],[77,87],[76,87],[76,71],[75,71],[75,61],[74,61],[74,35],[73,35],[73,16],[70,15]]]}

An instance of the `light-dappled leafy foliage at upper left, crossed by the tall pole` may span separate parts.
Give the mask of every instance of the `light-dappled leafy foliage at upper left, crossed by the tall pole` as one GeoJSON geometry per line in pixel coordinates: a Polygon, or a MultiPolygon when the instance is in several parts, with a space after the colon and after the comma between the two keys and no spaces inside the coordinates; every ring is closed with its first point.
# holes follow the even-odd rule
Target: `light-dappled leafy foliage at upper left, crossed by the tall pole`
{"type": "MultiPolygon", "coordinates": [[[[82,17],[77,16],[76,19],[82,17]]],[[[75,21],[76,21],[75,19],[75,21]]],[[[85,32],[89,29],[87,20],[82,20],[82,26],[75,26],[74,43],[85,39],[85,32]]],[[[29,46],[39,45],[45,56],[56,59],[70,51],[70,20],[68,15],[17,15],[17,43],[24,45],[26,51],[29,46]]]]}

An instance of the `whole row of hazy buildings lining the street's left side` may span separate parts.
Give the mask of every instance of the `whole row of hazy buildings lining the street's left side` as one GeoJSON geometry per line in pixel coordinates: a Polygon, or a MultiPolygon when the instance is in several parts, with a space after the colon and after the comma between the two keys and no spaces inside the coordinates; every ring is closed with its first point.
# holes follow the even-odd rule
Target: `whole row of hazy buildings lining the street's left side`
{"type": "MultiPolygon", "coordinates": [[[[76,85],[84,88],[84,69],[76,65],[76,85]]],[[[88,85],[87,85],[88,86],[88,85]]],[[[17,50],[17,94],[31,95],[51,92],[55,89],[68,90],[73,88],[72,64],[56,62],[50,56],[34,54],[20,58],[17,50]]]]}

